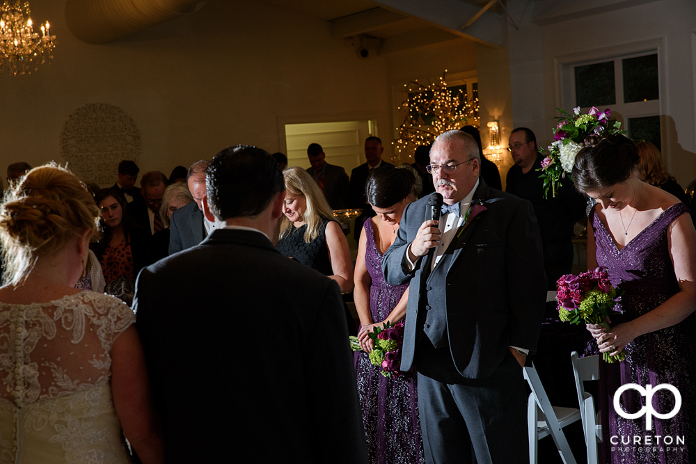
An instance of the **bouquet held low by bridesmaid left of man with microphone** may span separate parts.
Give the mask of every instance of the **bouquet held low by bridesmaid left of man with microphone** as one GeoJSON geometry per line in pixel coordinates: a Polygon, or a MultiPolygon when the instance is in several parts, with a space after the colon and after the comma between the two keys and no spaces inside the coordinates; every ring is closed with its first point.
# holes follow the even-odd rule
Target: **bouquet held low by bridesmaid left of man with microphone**
{"type": "MultiPolygon", "coordinates": [[[[385,377],[398,377],[404,372],[399,370],[401,366],[401,348],[404,344],[404,321],[395,324],[386,321],[381,328],[375,327],[374,331],[367,335],[374,342],[374,348],[368,355],[370,362],[381,367],[385,377]]],[[[353,351],[363,351],[358,342],[358,337],[351,335],[350,347],[353,351]]]]}

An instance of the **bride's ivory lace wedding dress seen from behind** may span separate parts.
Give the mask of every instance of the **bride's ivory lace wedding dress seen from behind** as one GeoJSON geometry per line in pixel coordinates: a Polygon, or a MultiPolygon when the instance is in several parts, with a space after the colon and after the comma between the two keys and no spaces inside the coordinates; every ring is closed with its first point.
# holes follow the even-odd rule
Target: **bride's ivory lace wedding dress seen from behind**
{"type": "Polygon", "coordinates": [[[111,346],[135,320],[92,291],[0,303],[0,463],[128,463],[111,346]]]}

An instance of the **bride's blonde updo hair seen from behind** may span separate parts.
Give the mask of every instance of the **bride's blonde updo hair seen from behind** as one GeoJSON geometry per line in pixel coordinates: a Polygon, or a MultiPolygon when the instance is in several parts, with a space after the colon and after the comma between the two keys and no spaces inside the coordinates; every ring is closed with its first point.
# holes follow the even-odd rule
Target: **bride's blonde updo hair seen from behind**
{"type": "Polygon", "coordinates": [[[55,163],[33,168],[0,207],[6,284],[19,285],[36,259],[52,255],[86,229],[97,238],[100,210],[85,184],[55,163]]]}

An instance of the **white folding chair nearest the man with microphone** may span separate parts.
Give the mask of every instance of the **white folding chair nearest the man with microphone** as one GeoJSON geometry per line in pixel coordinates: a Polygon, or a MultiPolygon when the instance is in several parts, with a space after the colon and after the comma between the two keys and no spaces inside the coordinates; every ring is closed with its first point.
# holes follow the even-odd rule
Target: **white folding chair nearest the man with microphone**
{"type": "Polygon", "coordinates": [[[537,464],[537,442],[548,435],[553,438],[564,464],[577,464],[562,429],[564,426],[582,419],[580,410],[551,406],[533,362],[532,367],[524,368],[524,378],[532,389],[527,404],[530,464],[537,464]]]}

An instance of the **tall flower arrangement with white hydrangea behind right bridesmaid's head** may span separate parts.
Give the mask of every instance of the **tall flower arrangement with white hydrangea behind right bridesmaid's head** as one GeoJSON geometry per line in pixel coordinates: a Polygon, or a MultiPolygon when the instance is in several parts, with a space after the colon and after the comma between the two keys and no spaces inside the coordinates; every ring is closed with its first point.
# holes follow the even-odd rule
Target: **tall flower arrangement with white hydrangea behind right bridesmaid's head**
{"type": "Polygon", "coordinates": [[[587,114],[580,113],[580,106],[573,109],[573,114],[560,108],[563,116],[556,116],[557,125],[553,129],[553,143],[548,145],[548,155],[541,161],[541,177],[544,179],[544,197],[551,191],[553,197],[561,186],[562,179],[572,182],[571,172],[575,157],[585,146],[585,138],[596,135],[606,137],[612,134],[624,134],[620,131],[621,122],[610,121],[611,112],[606,109],[600,113],[594,106],[587,114]]]}

